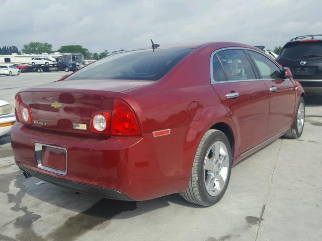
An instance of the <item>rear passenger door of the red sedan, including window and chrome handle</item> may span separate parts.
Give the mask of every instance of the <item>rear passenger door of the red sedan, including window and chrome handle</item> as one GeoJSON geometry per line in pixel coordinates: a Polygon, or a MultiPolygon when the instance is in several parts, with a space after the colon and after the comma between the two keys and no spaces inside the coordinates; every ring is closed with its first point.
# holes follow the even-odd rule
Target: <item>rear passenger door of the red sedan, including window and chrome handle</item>
{"type": "Polygon", "coordinates": [[[267,139],[267,87],[243,49],[218,50],[210,59],[211,84],[232,118],[240,152],[246,152],[267,139]]]}

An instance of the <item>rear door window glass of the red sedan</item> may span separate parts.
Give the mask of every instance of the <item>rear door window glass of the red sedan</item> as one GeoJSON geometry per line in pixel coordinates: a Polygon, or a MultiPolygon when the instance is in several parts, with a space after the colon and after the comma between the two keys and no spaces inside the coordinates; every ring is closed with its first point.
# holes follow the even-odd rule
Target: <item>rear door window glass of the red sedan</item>
{"type": "Polygon", "coordinates": [[[243,50],[229,49],[217,53],[228,80],[256,79],[255,73],[243,50]]]}

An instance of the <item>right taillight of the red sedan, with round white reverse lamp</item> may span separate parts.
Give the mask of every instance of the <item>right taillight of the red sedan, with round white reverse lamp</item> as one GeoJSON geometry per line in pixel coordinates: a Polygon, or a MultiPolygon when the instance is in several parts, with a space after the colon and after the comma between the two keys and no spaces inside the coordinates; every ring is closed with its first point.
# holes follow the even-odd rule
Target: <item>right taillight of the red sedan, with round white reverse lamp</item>
{"type": "Polygon", "coordinates": [[[134,111],[120,99],[114,100],[113,110],[93,114],[90,131],[111,136],[140,135],[134,111]]]}

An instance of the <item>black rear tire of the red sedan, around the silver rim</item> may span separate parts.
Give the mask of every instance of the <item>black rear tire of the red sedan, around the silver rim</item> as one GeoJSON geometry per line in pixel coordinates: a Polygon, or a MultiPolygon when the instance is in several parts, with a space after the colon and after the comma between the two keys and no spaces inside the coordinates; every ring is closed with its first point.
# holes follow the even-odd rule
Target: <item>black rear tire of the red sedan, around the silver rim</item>
{"type": "Polygon", "coordinates": [[[224,195],[230,178],[232,165],[232,156],[231,156],[231,147],[229,145],[228,139],[221,131],[218,130],[209,130],[203,136],[198,146],[195,159],[193,162],[191,178],[186,191],[182,192],[181,195],[188,202],[192,202],[201,206],[211,206],[218,202],[224,195]],[[204,170],[204,162],[207,151],[209,148],[217,141],[222,142],[227,148],[228,154],[228,172],[226,181],[224,183],[224,187],[222,190],[216,195],[211,196],[207,190],[205,185],[205,170],[204,170]]]}

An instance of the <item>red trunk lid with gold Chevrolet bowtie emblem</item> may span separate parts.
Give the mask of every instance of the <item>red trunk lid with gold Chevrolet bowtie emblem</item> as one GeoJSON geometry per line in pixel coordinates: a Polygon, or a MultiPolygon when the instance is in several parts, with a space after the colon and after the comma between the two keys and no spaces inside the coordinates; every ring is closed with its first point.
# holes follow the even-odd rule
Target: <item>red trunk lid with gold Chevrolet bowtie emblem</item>
{"type": "Polygon", "coordinates": [[[111,110],[119,92],[148,83],[137,80],[65,80],[23,90],[19,94],[31,107],[32,128],[90,135],[93,113],[111,110]]]}

